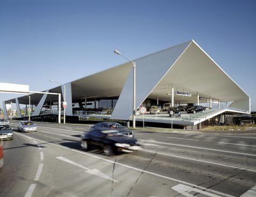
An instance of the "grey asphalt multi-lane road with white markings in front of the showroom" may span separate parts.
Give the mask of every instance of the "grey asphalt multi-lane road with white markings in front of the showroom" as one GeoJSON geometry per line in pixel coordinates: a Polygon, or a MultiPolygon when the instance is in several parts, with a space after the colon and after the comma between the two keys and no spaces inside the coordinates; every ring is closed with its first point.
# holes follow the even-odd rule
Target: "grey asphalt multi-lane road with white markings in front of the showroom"
{"type": "Polygon", "coordinates": [[[253,133],[135,131],[143,151],[108,157],[81,149],[87,126],[37,126],[4,142],[0,196],[256,196],[253,133]]]}

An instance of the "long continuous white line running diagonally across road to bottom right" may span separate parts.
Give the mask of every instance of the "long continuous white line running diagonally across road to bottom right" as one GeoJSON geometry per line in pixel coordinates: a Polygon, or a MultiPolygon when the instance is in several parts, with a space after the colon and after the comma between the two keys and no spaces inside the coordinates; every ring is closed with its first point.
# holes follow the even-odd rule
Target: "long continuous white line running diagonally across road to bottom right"
{"type": "MultiPolygon", "coordinates": [[[[17,132],[15,132],[15,133],[17,133],[17,132]]],[[[28,136],[22,135],[21,133],[17,133],[17,135],[21,135],[21,136],[23,136],[23,137],[28,137],[28,136]]],[[[36,138],[33,138],[33,139],[36,139],[36,138]]],[[[89,156],[89,157],[93,157],[93,158],[96,158],[96,159],[100,159],[100,160],[103,160],[103,161],[106,161],[106,162],[109,162],[109,163],[112,163],[112,164],[116,164],[116,165],[119,165],[119,166],[127,167],[127,168],[130,168],[130,169],[132,169],[132,170],[136,170],[136,171],[139,171],[139,172],[151,174],[151,175],[154,175],[154,176],[156,176],[156,177],[164,178],[164,179],[167,179],[167,180],[176,181],[176,182],[179,182],[179,183],[181,183],[181,184],[185,184],[185,185],[188,185],[188,186],[191,186],[191,187],[195,187],[195,188],[198,188],[198,189],[201,189],[201,190],[204,190],[204,191],[214,192],[214,193],[217,193],[217,194],[226,196],[226,197],[235,197],[235,196],[233,196],[233,195],[229,195],[229,194],[225,194],[225,193],[222,193],[222,192],[214,191],[213,189],[208,189],[208,188],[206,188],[206,187],[194,185],[194,184],[191,184],[190,182],[185,182],[185,181],[181,181],[181,180],[174,179],[174,178],[171,178],[171,177],[166,177],[166,176],[164,176],[164,175],[157,174],[157,173],[153,173],[153,172],[149,172],[149,171],[145,171],[145,170],[139,169],[139,168],[137,168],[137,167],[132,167],[132,166],[129,166],[129,165],[126,165],[126,164],[121,164],[121,163],[118,163],[118,162],[115,162],[115,161],[112,161],[112,160],[109,160],[109,159],[104,159],[104,158],[95,156],[95,155],[93,155],[93,154],[87,153],[87,152],[79,151],[79,150],[76,150],[76,149],[71,149],[71,148],[69,148],[69,147],[64,147],[64,146],[57,145],[57,144],[52,144],[52,143],[45,142],[45,141],[40,140],[40,139],[36,139],[36,140],[38,140],[38,141],[40,141],[40,142],[43,142],[43,143],[46,143],[46,144],[51,144],[51,145],[53,145],[53,146],[61,147],[62,149],[70,150],[70,151],[73,151],[73,152],[77,152],[77,153],[80,153],[80,154],[84,154],[84,155],[89,156]]]]}

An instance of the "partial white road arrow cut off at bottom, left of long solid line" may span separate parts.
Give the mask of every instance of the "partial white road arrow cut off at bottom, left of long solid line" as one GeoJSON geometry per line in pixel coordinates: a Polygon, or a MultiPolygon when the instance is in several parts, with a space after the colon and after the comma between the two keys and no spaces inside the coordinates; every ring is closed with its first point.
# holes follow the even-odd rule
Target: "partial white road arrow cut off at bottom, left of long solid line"
{"type": "Polygon", "coordinates": [[[173,186],[172,189],[179,192],[182,195],[187,196],[187,197],[194,196],[194,195],[190,194],[190,192],[197,192],[199,194],[204,194],[204,195],[211,196],[211,197],[221,197],[220,195],[215,195],[215,194],[212,194],[209,192],[201,191],[200,189],[189,187],[189,186],[182,185],[182,184],[173,186]]]}

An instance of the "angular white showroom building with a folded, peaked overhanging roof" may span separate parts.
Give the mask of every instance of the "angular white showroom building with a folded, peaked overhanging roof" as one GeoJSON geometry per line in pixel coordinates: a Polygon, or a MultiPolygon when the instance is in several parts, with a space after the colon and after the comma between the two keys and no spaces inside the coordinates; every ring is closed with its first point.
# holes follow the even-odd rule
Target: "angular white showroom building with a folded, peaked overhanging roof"
{"type": "MultiPolygon", "coordinates": [[[[200,129],[208,119],[223,114],[250,114],[250,96],[228,76],[220,66],[194,41],[187,41],[165,50],[133,60],[136,62],[136,108],[140,105],[172,105],[208,103],[208,110],[196,114],[182,114],[173,124],[187,129],[200,129]]],[[[66,115],[69,118],[89,117],[127,122],[132,116],[133,71],[131,62],[106,69],[65,84],[66,115]],[[102,111],[89,112],[83,108],[111,108],[111,115],[102,111]]],[[[45,92],[64,93],[58,86],[45,92]]],[[[62,94],[63,95],[63,94],[62,94]]],[[[57,96],[31,94],[35,108],[32,117],[57,114],[57,96]],[[42,111],[44,109],[44,111],[42,111]]],[[[28,97],[10,100],[17,105],[28,104],[28,97]]],[[[144,116],[147,123],[170,124],[168,114],[144,116]]],[[[227,116],[228,118],[228,116],[227,116]]],[[[137,122],[142,122],[139,115],[137,122]]]]}

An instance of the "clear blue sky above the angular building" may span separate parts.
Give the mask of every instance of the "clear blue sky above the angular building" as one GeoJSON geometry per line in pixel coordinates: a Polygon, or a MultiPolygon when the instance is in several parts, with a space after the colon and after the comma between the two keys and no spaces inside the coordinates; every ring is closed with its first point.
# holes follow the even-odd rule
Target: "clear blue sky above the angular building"
{"type": "Polygon", "coordinates": [[[191,39],[256,111],[254,0],[0,0],[0,82],[42,91],[191,39]]]}

